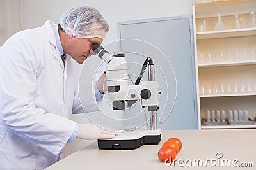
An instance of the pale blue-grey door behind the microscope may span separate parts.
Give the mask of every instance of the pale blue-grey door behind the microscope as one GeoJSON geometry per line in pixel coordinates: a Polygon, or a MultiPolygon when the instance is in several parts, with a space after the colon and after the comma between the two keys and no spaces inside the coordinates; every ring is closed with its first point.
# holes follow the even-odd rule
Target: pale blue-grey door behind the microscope
{"type": "MultiPolygon", "coordinates": [[[[120,50],[127,52],[131,81],[146,57],[155,62],[161,95],[157,125],[161,129],[198,129],[192,18],[168,17],[118,23],[120,50]]],[[[143,77],[147,81],[147,71],[143,77]]],[[[125,125],[141,125],[148,111],[140,103],[125,110],[125,125]]],[[[147,124],[145,124],[147,125],[147,124]]]]}

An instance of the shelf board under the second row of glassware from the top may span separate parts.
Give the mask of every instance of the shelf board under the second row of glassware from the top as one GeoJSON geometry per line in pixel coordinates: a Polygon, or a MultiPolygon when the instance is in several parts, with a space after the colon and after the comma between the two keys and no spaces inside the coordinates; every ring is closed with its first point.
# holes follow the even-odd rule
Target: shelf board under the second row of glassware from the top
{"type": "Polygon", "coordinates": [[[256,60],[246,60],[241,62],[212,62],[198,64],[199,68],[203,67],[225,67],[225,66],[244,66],[244,65],[255,65],[256,60]]]}

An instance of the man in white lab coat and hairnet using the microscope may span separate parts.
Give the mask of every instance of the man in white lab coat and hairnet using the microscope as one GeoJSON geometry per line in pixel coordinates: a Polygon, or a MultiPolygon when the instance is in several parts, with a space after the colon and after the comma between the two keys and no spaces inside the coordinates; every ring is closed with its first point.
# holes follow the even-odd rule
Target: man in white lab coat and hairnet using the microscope
{"type": "MultiPolygon", "coordinates": [[[[47,20],[0,47],[0,169],[44,169],[60,160],[67,142],[115,137],[69,119],[71,113],[97,110],[90,97],[82,108],[71,60],[82,64],[108,29],[99,11],[79,6],[67,11],[60,24],[47,20]]],[[[93,87],[97,99],[104,78],[93,87]]]]}

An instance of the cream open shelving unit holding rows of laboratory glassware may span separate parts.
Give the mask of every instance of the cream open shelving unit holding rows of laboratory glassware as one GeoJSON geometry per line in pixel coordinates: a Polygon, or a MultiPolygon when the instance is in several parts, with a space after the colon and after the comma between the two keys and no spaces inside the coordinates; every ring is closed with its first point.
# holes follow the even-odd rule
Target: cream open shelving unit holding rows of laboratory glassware
{"type": "Polygon", "coordinates": [[[201,129],[256,128],[255,11],[255,0],[193,4],[201,129]]]}

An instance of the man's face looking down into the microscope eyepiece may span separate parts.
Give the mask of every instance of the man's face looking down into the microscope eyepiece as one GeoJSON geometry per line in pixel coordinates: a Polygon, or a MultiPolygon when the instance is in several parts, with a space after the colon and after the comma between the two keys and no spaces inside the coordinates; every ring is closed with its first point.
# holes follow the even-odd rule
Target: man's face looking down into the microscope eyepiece
{"type": "Polygon", "coordinates": [[[82,64],[84,60],[94,54],[92,48],[95,44],[100,45],[103,39],[99,37],[95,38],[76,38],[73,37],[70,42],[70,52],[71,57],[76,60],[79,64],[82,64]]]}

